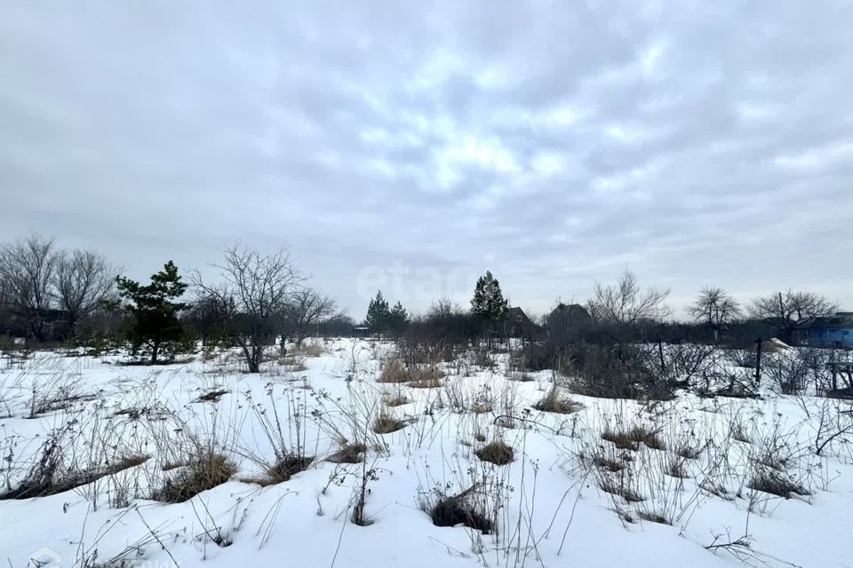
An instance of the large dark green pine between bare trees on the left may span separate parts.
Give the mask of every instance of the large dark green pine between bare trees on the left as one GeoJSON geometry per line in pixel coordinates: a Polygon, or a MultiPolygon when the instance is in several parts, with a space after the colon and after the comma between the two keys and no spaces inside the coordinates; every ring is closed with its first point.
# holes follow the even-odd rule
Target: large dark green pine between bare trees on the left
{"type": "Polygon", "coordinates": [[[121,276],[116,284],[119,294],[132,303],[134,351],[147,343],[151,349],[151,363],[155,364],[163,343],[178,341],[181,337],[178,312],[187,304],[172,300],[183,296],[187,284],[180,281],[178,267],[171,260],[163,265],[162,271],[151,276],[151,283],[146,286],[121,276]]]}

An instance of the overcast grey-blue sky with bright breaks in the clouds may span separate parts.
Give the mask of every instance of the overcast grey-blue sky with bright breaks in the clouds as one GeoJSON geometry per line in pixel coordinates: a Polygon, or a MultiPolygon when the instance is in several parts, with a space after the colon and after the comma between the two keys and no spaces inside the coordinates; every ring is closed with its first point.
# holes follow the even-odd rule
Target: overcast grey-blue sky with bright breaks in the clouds
{"type": "Polygon", "coordinates": [[[363,316],[627,268],[853,310],[848,2],[0,4],[0,240],[289,245],[363,316]]]}

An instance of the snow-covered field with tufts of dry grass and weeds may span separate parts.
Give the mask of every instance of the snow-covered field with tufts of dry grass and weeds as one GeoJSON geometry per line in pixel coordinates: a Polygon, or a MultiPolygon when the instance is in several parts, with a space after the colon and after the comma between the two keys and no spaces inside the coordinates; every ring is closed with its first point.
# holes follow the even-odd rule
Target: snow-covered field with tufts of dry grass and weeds
{"type": "Polygon", "coordinates": [[[45,470],[53,482],[97,474],[0,501],[0,561],[853,566],[853,439],[830,439],[843,402],[561,392],[582,406],[556,414],[533,408],[553,374],[511,380],[506,355],[492,368],[445,363],[441,386],[412,388],[378,382],[391,343],[315,345],[261,375],[240,373],[238,353],[163,367],[44,352],[0,362],[0,493],[45,470]],[[402,428],[376,433],[378,416],[402,428]],[[635,428],[642,442],[620,442],[633,447],[602,438],[635,428]],[[513,448],[508,465],[475,454],[496,440],[513,448]],[[363,459],[340,462],[356,444],[363,459]],[[152,499],[205,451],[233,462],[226,483],[188,501],[152,499]],[[270,484],[283,454],[314,460],[270,484]],[[759,480],[787,498],[753,488],[759,480]],[[466,490],[450,502],[495,522],[489,534],[436,526],[425,512],[466,490]]]}

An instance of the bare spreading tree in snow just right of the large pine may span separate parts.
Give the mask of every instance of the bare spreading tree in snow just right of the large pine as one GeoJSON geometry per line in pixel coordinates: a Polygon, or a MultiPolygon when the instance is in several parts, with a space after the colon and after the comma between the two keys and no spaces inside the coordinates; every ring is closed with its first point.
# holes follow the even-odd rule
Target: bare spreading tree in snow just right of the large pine
{"type": "Polygon", "coordinates": [[[270,255],[243,248],[228,248],[219,268],[222,282],[205,285],[195,272],[193,282],[200,299],[215,306],[227,334],[243,350],[250,373],[259,373],[264,348],[275,337],[281,314],[302,280],[286,249],[270,255]]]}

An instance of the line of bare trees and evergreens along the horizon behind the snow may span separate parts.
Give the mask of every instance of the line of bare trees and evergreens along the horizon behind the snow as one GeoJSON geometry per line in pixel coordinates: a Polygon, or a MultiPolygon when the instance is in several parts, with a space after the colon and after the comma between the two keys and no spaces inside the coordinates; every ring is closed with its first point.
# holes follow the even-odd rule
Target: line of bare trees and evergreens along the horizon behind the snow
{"type": "MultiPolygon", "coordinates": [[[[60,248],[52,238],[34,234],[4,243],[0,335],[39,343],[112,335],[130,341],[134,351],[145,351],[153,362],[164,346],[201,339],[239,348],[247,367],[257,372],[268,345],[279,343],[283,350],[287,339],[299,344],[311,334],[353,331],[355,321],[339,311],[334,298],[309,284],[286,248],[262,254],[237,244],[210,268],[217,272],[215,280],[205,280],[198,270],[187,272],[184,280],[169,261],[150,282],[140,283],[123,276],[104,256],[60,248]]],[[[668,296],[669,290],[641,288],[629,271],[613,283],[596,283],[583,304],[589,321],[578,333],[587,340],[598,335],[620,343],[655,334],[680,334],[687,340],[710,334],[716,343],[737,335],[737,329],[753,333],[761,327],[794,343],[799,329],[838,309],[809,291],[775,292],[743,305],[722,288],[706,287],[688,308],[692,321],[677,322],[666,305],[668,296]]],[[[413,316],[402,302],[392,305],[379,291],[367,307],[363,327],[390,336],[426,327],[453,341],[490,342],[508,310],[498,280],[485,272],[474,285],[468,308],[442,298],[413,316]]]]}

